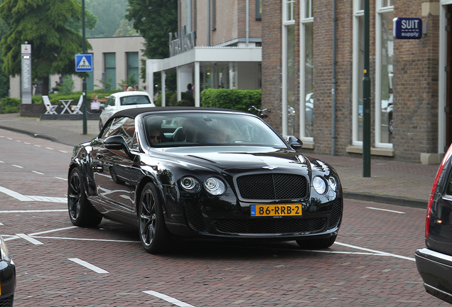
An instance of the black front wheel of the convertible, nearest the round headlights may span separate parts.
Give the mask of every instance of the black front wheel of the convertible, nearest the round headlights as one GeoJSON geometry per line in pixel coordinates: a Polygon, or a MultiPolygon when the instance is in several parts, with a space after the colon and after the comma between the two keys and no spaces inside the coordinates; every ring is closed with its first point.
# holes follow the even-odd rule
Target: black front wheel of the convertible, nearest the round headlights
{"type": "Polygon", "coordinates": [[[144,250],[151,254],[166,252],[171,245],[171,237],[163,219],[156,186],[152,183],[147,183],[141,193],[138,220],[144,250]]]}

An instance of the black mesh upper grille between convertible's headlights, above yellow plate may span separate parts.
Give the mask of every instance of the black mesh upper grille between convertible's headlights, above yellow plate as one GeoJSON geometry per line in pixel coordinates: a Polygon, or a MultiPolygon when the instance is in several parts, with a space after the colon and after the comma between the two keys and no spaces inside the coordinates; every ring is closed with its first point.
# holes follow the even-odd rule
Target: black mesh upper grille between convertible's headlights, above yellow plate
{"type": "Polygon", "coordinates": [[[306,198],[308,180],[292,174],[257,174],[237,178],[237,188],[243,199],[281,200],[306,198]]]}

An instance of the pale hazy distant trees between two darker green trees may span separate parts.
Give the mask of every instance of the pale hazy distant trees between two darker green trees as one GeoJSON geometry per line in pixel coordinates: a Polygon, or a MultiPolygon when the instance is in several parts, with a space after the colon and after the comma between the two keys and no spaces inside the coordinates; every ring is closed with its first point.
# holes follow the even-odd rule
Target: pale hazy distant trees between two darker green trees
{"type": "Polygon", "coordinates": [[[112,37],[116,33],[127,9],[127,0],[85,0],[85,6],[98,18],[92,30],[87,30],[87,37],[112,37]]]}

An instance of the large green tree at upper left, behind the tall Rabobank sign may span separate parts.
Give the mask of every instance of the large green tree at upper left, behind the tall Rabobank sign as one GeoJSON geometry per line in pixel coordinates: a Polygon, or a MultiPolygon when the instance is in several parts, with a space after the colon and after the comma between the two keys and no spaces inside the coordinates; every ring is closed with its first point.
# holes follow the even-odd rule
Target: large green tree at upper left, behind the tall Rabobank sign
{"type": "Polygon", "coordinates": [[[0,41],[4,72],[21,73],[21,44],[31,44],[31,77],[43,80],[43,95],[48,95],[49,75],[74,73],[74,55],[82,51],[82,36],[68,23],[81,15],[82,6],[76,0],[4,0],[0,18],[11,27],[0,41]]]}

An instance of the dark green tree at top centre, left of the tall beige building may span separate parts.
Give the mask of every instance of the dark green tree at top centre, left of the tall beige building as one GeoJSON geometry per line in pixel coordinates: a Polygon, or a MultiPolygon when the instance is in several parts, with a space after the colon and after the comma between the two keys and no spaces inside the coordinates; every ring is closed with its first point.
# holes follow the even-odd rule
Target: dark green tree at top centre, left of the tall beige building
{"type": "Polygon", "coordinates": [[[178,28],[177,0],[129,0],[126,18],[144,37],[147,58],[168,58],[168,34],[178,28]]]}

